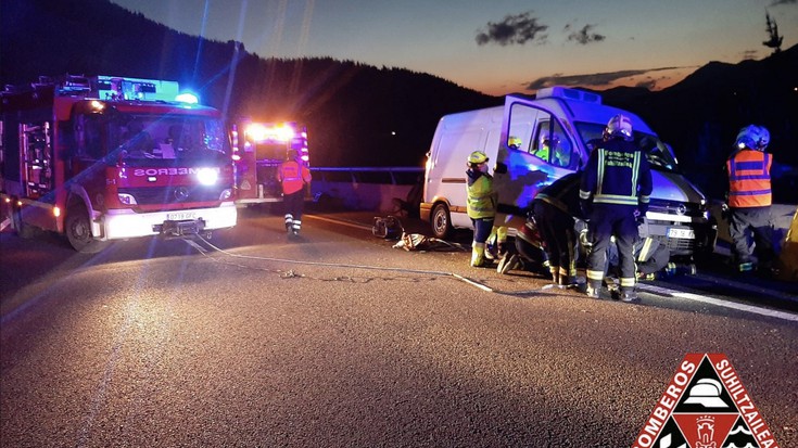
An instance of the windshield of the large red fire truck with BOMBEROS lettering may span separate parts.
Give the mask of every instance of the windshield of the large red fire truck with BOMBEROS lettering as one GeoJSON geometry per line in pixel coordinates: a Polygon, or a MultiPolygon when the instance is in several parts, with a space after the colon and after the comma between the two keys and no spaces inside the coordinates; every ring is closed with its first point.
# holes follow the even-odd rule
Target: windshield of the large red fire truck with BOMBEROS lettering
{"type": "Polygon", "coordinates": [[[109,148],[126,161],[229,159],[224,124],[211,117],[117,114],[107,131],[109,148]]]}

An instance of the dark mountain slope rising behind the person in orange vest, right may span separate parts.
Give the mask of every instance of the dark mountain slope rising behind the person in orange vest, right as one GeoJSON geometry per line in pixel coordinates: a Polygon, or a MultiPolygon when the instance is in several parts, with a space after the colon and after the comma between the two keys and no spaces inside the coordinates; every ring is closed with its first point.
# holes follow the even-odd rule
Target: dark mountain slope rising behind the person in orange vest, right
{"type": "Polygon", "coordinates": [[[682,169],[705,193],[721,197],[722,165],[739,128],[749,124],[771,133],[768,152],[778,177],[776,200],[798,202],[798,46],[761,61],[710,62],[661,91],[608,90],[605,102],[641,115],[673,145],[682,169]]]}

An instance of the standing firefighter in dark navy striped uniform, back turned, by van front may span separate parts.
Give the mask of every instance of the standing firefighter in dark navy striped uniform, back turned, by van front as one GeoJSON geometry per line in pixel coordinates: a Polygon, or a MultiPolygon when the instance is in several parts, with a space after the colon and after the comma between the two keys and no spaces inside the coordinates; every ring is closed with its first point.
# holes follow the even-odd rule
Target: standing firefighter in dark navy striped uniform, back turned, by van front
{"type": "Polygon", "coordinates": [[[651,170],[633,142],[632,120],[616,115],[607,123],[603,141],[590,155],[580,184],[580,206],[588,218],[588,297],[599,298],[607,270],[607,248],[616,238],[620,264],[620,298],[637,303],[633,245],[637,216],[645,216],[651,194],[651,170]]]}

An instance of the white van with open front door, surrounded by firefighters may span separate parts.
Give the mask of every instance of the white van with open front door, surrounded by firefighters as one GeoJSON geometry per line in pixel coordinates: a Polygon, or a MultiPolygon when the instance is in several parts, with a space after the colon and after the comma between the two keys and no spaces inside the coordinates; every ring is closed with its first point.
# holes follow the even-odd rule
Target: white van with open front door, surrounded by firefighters
{"type": "Polygon", "coordinates": [[[680,171],[671,149],[638,116],[601,104],[595,93],[552,87],[535,97],[507,95],[504,106],[441,118],[428,153],[421,219],[444,239],[453,228],[471,228],[466,214],[466,159],[484,151],[494,167],[497,225],[523,226],[542,187],[579,170],[591,141],[600,139],[616,114],[632,119],[635,142],[651,164],[654,192],[643,232],[664,242],[672,257],[711,253],[717,226],[704,194],[680,171]]]}

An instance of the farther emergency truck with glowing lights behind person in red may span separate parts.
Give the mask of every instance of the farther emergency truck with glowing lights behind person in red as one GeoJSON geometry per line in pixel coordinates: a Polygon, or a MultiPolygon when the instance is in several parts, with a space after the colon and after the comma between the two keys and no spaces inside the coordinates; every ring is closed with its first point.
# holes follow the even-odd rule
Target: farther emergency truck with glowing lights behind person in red
{"type": "MultiPolygon", "coordinates": [[[[277,169],[289,150],[309,164],[307,129],[295,121],[258,123],[241,119],[232,125],[236,164],[236,204],[249,206],[282,201],[277,169]]],[[[305,194],[309,195],[309,187],[305,194]]]]}

